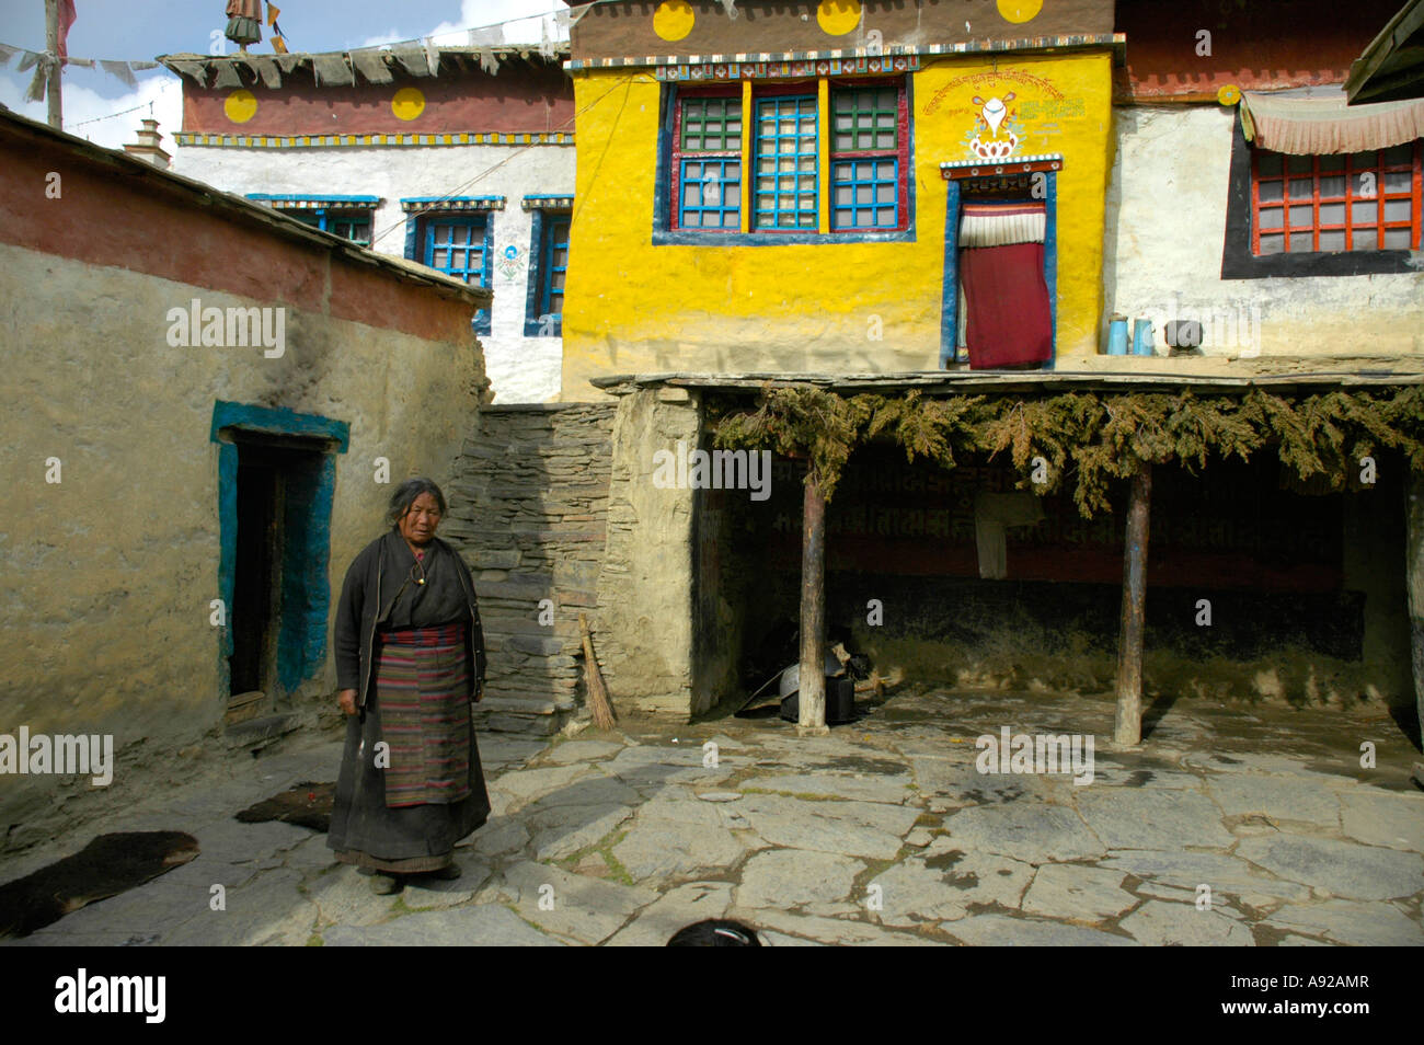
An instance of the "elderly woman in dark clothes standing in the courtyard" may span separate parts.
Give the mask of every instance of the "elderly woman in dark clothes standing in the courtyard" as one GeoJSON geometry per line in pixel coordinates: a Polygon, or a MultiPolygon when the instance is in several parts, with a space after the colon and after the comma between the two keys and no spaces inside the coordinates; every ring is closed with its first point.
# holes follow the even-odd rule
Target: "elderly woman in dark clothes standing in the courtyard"
{"type": "Polygon", "coordinates": [[[484,632],[470,571],[436,528],[427,478],[390,498],[390,531],[346,571],[336,609],[337,703],[350,716],[326,844],[373,874],[460,877],[454,846],[490,816],[471,702],[484,696],[484,632]]]}

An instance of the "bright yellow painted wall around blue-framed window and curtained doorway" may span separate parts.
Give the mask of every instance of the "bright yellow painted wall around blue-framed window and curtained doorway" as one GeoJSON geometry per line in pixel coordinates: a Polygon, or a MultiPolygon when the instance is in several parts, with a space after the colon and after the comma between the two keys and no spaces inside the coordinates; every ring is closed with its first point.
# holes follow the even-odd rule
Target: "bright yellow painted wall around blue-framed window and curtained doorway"
{"type": "Polygon", "coordinates": [[[973,98],[1010,91],[1014,122],[998,137],[1017,128],[1012,155],[1064,155],[1057,357],[1095,353],[1111,165],[1108,51],[954,58],[911,74],[909,243],[654,246],[662,85],[644,71],[608,70],[574,78],[578,177],[562,399],[597,399],[590,379],[617,373],[938,369],[947,195],[940,162],[971,158],[980,108],[973,98]]]}

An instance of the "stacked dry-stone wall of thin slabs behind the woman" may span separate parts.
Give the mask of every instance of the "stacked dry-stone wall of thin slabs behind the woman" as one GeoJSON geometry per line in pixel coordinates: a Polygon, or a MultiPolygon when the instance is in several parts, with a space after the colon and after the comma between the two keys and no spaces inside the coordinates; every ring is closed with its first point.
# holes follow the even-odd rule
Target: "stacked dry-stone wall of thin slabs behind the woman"
{"type": "Polygon", "coordinates": [[[612,417],[612,403],[491,406],[456,461],[441,535],[474,572],[487,729],[553,733],[584,705],[578,614],[601,653],[612,417]]]}

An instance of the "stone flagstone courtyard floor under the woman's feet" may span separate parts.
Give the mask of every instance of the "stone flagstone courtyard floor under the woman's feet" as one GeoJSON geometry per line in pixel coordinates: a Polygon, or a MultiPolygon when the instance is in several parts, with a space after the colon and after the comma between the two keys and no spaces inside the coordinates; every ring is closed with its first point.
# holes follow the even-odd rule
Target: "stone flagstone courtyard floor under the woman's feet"
{"type": "Polygon", "coordinates": [[[486,733],[494,810],[464,876],[384,897],[325,834],[234,819],[336,777],[335,735],[293,739],[10,861],[6,880],[122,830],[202,850],[11,944],[664,945],[713,917],[772,945],[1424,944],[1424,793],[1390,718],[1178,702],[1112,752],[1112,713],[910,689],[826,737],[776,718],[486,733]],[[1094,733],[1092,782],[980,773],[975,737],[1004,726],[1094,733]]]}

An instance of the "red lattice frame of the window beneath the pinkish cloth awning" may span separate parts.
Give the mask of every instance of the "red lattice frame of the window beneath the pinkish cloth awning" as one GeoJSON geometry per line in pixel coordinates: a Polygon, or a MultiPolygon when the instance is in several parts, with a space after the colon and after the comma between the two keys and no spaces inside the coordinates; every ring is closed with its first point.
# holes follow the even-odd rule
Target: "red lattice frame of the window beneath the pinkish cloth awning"
{"type": "MultiPolygon", "coordinates": [[[[1398,251],[1398,249],[1420,249],[1420,224],[1421,224],[1421,184],[1424,184],[1424,141],[1414,141],[1413,155],[1407,164],[1386,164],[1384,154],[1388,149],[1366,149],[1374,152],[1374,164],[1367,167],[1357,167],[1354,157],[1358,154],[1343,155],[1344,167],[1339,171],[1321,171],[1320,161],[1324,157],[1309,157],[1310,169],[1309,171],[1292,171],[1290,161],[1302,159],[1302,157],[1292,157],[1282,152],[1267,152],[1265,149],[1252,149],[1250,158],[1250,205],[1252,205],[1252,222],[1250,222],[1250,251],[1256,258],[1270,258],[1276,253],[1313,253],[1320,252],[1320,233],[1321,232],[1343,232],[1344,233],[1344,251],[1354,249],[1354,233],[1373,231],[1376,233],[1376,248],[1377,251],[1398,251]],[[1279,157],[1280,172],[1279,174],[1262,174],[1260,164],[1265,157],[1279,157]],[[1410,187],[1407,189],[1396,189],[1387,192],[1384,188],[1386,174],[1410,174],[1410,187]],[[1376,179],[1376,191],[1373,196],[1361,195],[1358,192],[1360,175],[1373,174],[1376,179]],[[1344,194],[1343,195],[1321,195],[1320,179],[1321,178],[1344,178],[1344,194]],[[1300,181],[1303,178],[1310,178],[1310,195],[1293,195],[1292,181],[1300,181]],[[1280,182],[1280,199],[1262,201],[1260,188],[1262,184],[1280,182]],[[1384,205],[1391,201],[1407,199],[1410,201],[1410,216],[1405,221],[1386,221],[1384,205]],[[1376,204],[1374,221],[1354,221],[1354,205],[1373,202],[1376,204]],[[1340,204],[1344,208],[1344,222],[1321,224],[1320,221],[1320,206],[1340,204]],[[1304,226],[1290,226],[1290,211],[1293,208],[1310,206],[1310,225],[1304,226]],[[1276,228],[1262,228],[1262,214],[1279,212],[1280,226],[1276,228]],[[1410,242],[1408,248],[1387,248],[1384,246],[1384,233],[1387,229],[1408,229],[1410,242]],[[1282,249],[1273,251],[1272,253],[1262,253],[1260,238],[1262,233],[1267,236],[1279,235],[1282,238],[1282,249]],[[1292,251],[1292,239],[1307,236],[1310,239],[1309,251],[1292,251]]],[[[1398,148],[1397,145],[1391,148],[1398,148]]],[[[1370,249],[1370,248],[1363,248],[1370,249]]],[[[1334,252],[1334,251],[1327,251],[1334,252]]]]}

